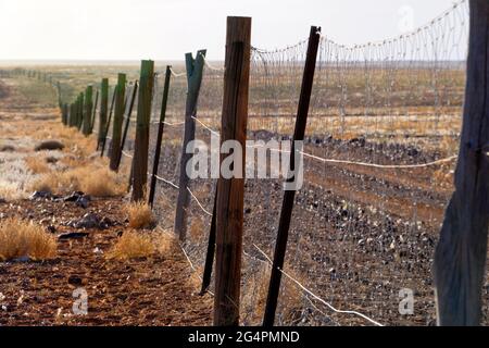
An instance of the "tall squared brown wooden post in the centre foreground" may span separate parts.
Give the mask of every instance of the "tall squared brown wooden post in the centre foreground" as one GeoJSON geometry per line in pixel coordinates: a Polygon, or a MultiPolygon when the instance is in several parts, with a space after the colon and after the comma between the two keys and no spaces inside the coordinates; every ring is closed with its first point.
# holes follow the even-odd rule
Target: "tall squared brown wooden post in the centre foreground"
{"type": "MultiPolygon", "coordinates": [[[[240,177],[224,178],[221,174],[217,184],[214,297],[216,326],[239,325],[250,38],[250,17],[227,18],[221,141],[238,141],[242,158],[235,158],[241,161],[240,177]]],[[[221,154],[221,163],[225,157],[221,154]]]]}

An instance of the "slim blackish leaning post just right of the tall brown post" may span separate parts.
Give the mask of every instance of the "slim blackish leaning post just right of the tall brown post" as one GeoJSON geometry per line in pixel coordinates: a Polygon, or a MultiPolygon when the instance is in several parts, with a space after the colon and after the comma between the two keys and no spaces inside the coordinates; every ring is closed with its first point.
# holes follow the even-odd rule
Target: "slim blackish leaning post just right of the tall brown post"
{"type": "MultiPolygon", "coordinates": [[[[311,103],[311,92],[314,83],[314,72],[316,69],[316,58],[319,47],[321,28],[312,26],[309,36],[308,53],[305,57],[305,66],[302,77],[301,95],[299,98],[299,107],[296,119],[296,129],[293,133],[293,142],[290,153],[290,167],[297,169],[296,163],[296,141],[303,141],[305,127],[308,125],[309,105],[311,103]]],[[[293,175],[288,175],[288,183],[297,179],[293,175]]],[[[272,265],[272,274],[269,278],[268,296],[266,298],[266,308],[263,319],[264,326],[273,326],[275,321],[275,312],[277,309],[278,294],[280,290],[281,270],[284,269],[285,254],[287,251],[287,240],[289,237],[290,220],[292,217],[293,200],[296,190],[286,190],[281,204],[280,221],[278,223],[277,240],[275,243],[274,262],[272,265]]]]}

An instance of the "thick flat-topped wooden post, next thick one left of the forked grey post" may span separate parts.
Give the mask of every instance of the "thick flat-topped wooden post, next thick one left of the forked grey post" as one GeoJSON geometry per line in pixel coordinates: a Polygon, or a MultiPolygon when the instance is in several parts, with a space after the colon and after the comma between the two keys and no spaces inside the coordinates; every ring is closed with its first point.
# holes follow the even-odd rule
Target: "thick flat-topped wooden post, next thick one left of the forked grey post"
{"type": "Polygon", "coordinates": [[[136,120],[136,141],[133,164],[133,201],[145,199],[148,182],[149,125],[151,121],[151,101],[154,86],[154,62],[141,62],[139,77],[138,114],[136,120]]]}

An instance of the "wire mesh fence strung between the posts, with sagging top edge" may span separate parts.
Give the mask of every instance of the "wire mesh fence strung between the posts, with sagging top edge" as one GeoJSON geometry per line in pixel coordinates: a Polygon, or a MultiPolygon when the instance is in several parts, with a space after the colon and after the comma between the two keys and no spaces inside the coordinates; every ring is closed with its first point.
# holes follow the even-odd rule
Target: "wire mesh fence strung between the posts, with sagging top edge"
{"type": "MultiPolygon", "coordinates": [[[[346,47],[321,39],[302,151],[304,183],[296,196],[276,324],[432,323],[432,254],[453,190],[467,18],[467,1],[461,1],[426,26],[385,41],[346,47]],[[399,312],[405,289],[415,296],[410,315],[399,312]]],[[[260,161],[256,167],[254,159],[287,153],[266,145],[292,138],[306,49],[305,40],[273,51],[252,49],[248,139],[265,148],[247,149],[253,160],[247,163],[244,194],[240,309],[246,325],[263,320],[283,198],[276,169],[260,161]],[[259,172],[266,178],[256,179],[259,172]]],[[[178,186],[188,82],[181,69],[171,73],[154,212],[160,226],[173,231],[178,191],[189,192],[181,248],[202,274],[217,179],[178,186]]],[[[218,63],[205,61],[192,116],[198,141],[187,149],[193,153],[218,157],[212,145],[221,133],[224,74],[218,63]]],[[[158,72],[154,78],[150,169],[164,77],[158,72]]],[[[130,167],[135,119],[128,123],[123,167],[130,167]]]]}

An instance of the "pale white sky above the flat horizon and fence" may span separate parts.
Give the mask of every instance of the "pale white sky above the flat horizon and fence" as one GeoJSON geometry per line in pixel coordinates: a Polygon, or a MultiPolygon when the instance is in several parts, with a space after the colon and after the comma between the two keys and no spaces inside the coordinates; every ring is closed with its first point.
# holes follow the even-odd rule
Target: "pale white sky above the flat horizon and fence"
{"type": "Polygon", "coordinates": [[[306,38],[311,25],[346,44],[402,34],[453,0],[0,0],[0,60],[181,60],[224,57],[227,15],[253,17],[252,45],[306,38]],[[403,21],[404,20],[404,21],[403,21]],[[410,23],[410,21],[408,21],[410,23]]]}

